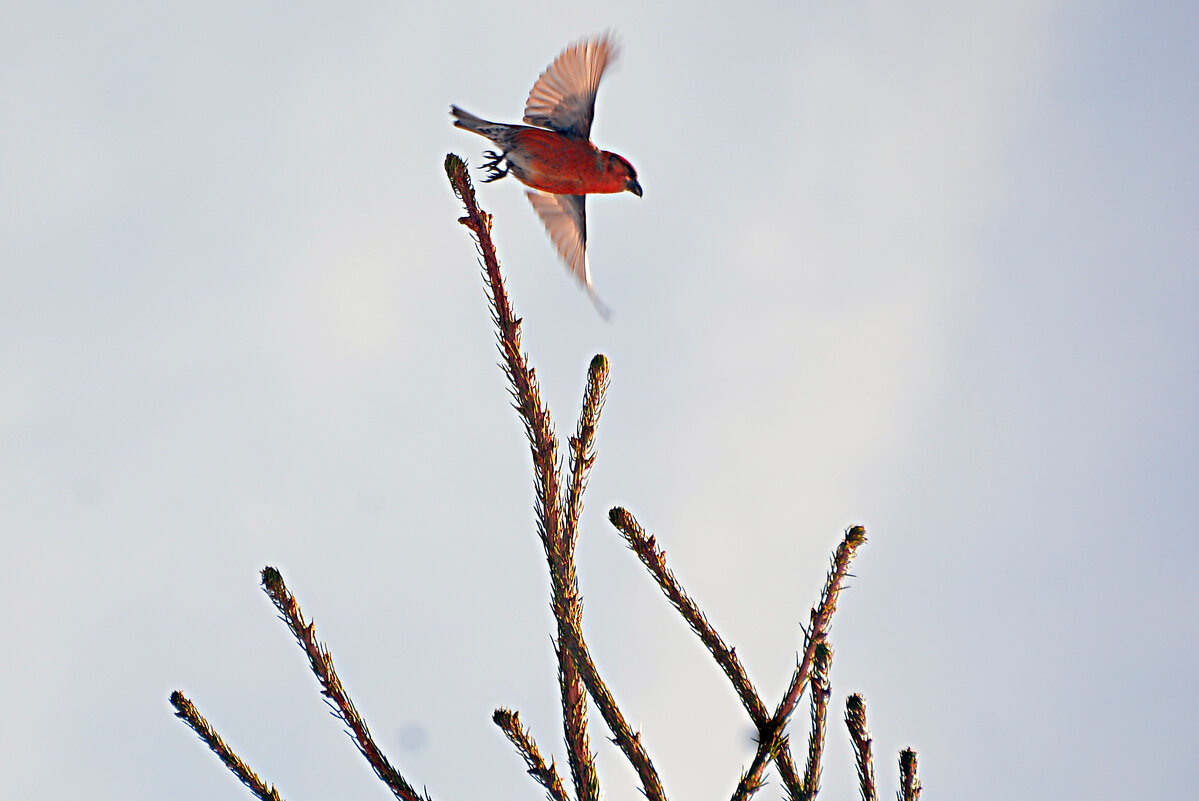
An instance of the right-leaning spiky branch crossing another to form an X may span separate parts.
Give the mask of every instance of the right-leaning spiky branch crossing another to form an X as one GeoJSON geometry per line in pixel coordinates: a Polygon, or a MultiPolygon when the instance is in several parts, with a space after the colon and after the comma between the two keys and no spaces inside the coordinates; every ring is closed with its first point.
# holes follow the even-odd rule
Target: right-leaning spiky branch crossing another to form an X
{"type": "Polygon", "coordinates": [[[764,733],[758,740],[758,752],[754,754],[749,769],[741,776],[741,782],[733,794],[733,801],[748,801],[761,787],[761,773],[766,765],[779,751],[785,751],[787,723],[795,711],[795,705],[800,700],[800,694],[808,682],[812,673],[812,661],[815,658],[817,648],[829,639],[829,630],[832,626],[832,616],[837,612],[837,597],[840,595],[845,578],[849,576],[849,566],[854,561],[854,554],[866,542],[866,529],[855,525],[845,531],[845,537],[837,546],[837,552],[832,558],[832,566],[825,579],[824,592],[820,604],[812,610],[811,622],[805,633],[803,657],[795,667],[791,683],[779,701],[778,707],[771,716],[764,733]]]}

